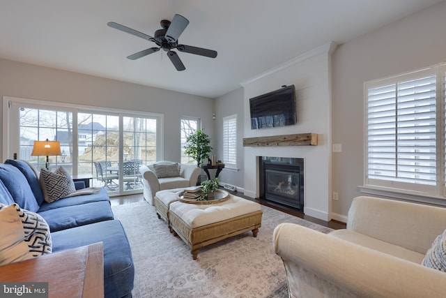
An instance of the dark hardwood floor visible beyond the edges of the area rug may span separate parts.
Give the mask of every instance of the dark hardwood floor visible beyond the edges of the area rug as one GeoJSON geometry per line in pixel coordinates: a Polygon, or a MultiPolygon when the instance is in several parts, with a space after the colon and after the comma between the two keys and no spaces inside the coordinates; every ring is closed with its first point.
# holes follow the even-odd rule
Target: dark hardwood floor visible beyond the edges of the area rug
{"type": "MultiPolygon", "coordinates": [[[[245,198],[247,200],[252,200],[254,202],[258,202],[259,204],[263,204],[265,206],[268,206],[270,208],[285,212],[287,214],[291,214],[293,216],[297,216],[299,218],[303,218],[307,221],[311,221],[312,223],[317,223],[318,225],[323,225],[324,227],[328,227],[328,228],[332,228],[334,230],[339,230],[339,229],[345,229],[346,228],[346,224],[345,223],[341,223],[339,221],[322,221],[321,219],[318,218],[314,218],[312,216],[307,216],[305,214],[302,214],[300,212],[297,211],[292,211],[289,209],[284,209],[272,204],[267,204],[264,202],[259,202],[259,200],[254,200],[252,198],[249,198],[245,195],[243,195],[243,193],[237,193],[237,192],[232,192],[229,191],[229,193],[232,193],[233,195],[238,195],[241,198],[245,198]]],[[[116,205],[122,205],[122,204],[131,204],[134,202],[141,202],[144,200],[144,197],[141,194],[137,194],[137,195],[122,195],[122,196],[116,196],[116,197],[112,197],[110,198],[110,202],[112,203],[112,206],[116,206],[116,205]]]]}

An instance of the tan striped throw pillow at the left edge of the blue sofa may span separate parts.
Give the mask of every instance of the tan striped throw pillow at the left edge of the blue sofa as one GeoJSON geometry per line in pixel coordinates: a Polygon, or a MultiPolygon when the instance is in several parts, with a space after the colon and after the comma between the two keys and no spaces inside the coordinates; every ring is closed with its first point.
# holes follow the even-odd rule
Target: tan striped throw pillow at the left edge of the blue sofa
{"type": "Polygon", "coordinates": [[[24,241],[22,221],[16,206],[10,204],[0,209],[0,265],[33,258],[24,241]]]}

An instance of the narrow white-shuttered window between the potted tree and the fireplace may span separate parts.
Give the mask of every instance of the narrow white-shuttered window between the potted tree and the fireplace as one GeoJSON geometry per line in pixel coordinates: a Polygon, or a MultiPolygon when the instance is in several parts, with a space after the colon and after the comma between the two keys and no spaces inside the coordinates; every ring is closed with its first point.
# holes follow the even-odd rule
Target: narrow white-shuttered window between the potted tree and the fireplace
{"type": "Polygon", "coordinates": [[[223,162],[225,167],[237,167],[237,115],[223,118],[223,162]]]}

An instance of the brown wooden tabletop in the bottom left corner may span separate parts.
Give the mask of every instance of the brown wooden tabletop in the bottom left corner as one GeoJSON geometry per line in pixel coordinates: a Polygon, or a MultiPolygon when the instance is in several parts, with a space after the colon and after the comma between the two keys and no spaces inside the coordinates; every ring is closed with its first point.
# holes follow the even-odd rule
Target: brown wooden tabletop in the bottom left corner
{"type": "Polygon", "coordinates": [[[104,297],[102,242],[1,266],[0,281],[47,282],[54,298],[104,297]]]}

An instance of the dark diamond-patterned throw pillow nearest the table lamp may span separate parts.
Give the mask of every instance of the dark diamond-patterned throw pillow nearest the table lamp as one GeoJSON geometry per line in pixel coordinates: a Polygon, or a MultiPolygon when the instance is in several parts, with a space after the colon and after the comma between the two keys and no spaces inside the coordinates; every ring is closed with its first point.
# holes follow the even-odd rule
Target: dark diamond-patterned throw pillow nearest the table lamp
{"type": "Polygon", "coordinates": [[[48,203],[65,198],[70,193],[75,193],[76,191],[75,183],[63,167],[59,167],[55,172],[42,169],[40,171],[39,183],[42,188],[43,198],[48,203]]]}

